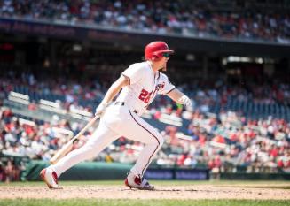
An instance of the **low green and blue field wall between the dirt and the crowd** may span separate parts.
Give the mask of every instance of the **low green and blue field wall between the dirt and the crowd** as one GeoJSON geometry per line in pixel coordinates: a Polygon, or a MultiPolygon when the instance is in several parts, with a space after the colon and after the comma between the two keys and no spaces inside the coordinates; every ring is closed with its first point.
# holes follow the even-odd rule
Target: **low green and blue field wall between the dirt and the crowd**
{"type": "MultiPolygon", "coordinates": [[[[39,172],[49,163],[45,161],[31,161],[27,164],[22,179],[39,180],[39,172]]],[[[77,164],[61,175],[60,180],[103,180],[124,179],[131,164],[88,162],[77,164]]],[[[153,168],[145,173],[147,179],[179,179],[179,180],[290,180],[290,173],[247,173],[247,172],[221,172],[210,173],[208,169],[181,169],[181,168],[153,168]]]]}

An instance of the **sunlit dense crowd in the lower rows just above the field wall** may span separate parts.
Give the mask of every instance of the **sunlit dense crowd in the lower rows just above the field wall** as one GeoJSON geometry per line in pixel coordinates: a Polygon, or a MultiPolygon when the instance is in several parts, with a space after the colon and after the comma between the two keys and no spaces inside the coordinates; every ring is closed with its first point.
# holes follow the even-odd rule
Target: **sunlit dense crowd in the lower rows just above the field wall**
{"type": "MultiPolygon", "coordinates": [[[[171,115],[175,113],[171,111],[171,115]]],[[[190,111],[182,112],[184,118],[188,117],[188,113],[192,117],[187,133],[178,132],[176,126],[167,126],[161,131],[165,143],[154,164],[208,167],[212,172],[236,172],[237,168],[247,172],[289,172],[290,126],[283,119],[247,121],[235,112],[212,116],[190,111]]],[[[7,155],[45,161],[71,138],[59,134],[59,129],[76,134],[82,128],[82,125],[70,126],[64,120],[43,125],[20,122],[21,118],[16,118],[11,111],[2,112],[1,151],[7,155]]],[[[91,132],[84,134],[74,149],[81,147],[90,138],[91,132]]],[[[142,147],[138,142],[121,137],[94,160],[132,164],[142,147]]]]}

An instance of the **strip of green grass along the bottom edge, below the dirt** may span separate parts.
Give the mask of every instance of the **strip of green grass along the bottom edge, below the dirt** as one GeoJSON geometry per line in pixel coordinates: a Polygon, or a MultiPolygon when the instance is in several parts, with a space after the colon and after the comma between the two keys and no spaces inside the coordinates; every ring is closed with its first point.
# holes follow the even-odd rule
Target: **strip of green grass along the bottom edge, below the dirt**
{"type": "Polygon", "coordinates": [[[67,200],[51,200],[51,199],[17,199],[17,200],[1,200],[0,206],[86,206],[86,205],[106,205],[106,206],[287,206],[289,201],[255,201],[255,200],[107,200],[107,199],[67,199],[67,200]]]}

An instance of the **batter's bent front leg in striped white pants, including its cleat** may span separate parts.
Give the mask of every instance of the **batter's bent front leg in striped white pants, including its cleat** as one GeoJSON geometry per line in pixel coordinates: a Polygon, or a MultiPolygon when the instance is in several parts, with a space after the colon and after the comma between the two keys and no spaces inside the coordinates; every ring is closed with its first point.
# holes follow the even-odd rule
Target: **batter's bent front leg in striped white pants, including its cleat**
{"type": "Polygon", "coordinates": [[[145,143],[145,147],[140,152],[136,164],[126,179],[126,185],[140,189],[153,189],[153,186],[149,185],[143,175],[153,157],[161,149],[164,142],[163,137],[153,126],[150,126],[144,119],[131,111],[129,111],[127,124],[124,124],[123,127],[122,134],[124,136],[145,143]]]}

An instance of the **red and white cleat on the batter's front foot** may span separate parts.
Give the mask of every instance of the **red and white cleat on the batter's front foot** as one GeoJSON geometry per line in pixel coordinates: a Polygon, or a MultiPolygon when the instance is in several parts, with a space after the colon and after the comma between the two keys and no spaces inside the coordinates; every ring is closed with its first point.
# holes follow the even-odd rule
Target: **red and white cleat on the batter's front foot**
{"type": "Polygon", "coordinates": [[[137,188],[142,190],[154,190],[154,186],[150,185],[147,179],[137,177],[132,172],[129,172],[125,179],[125,185],[129,188],[137,188]]]}

